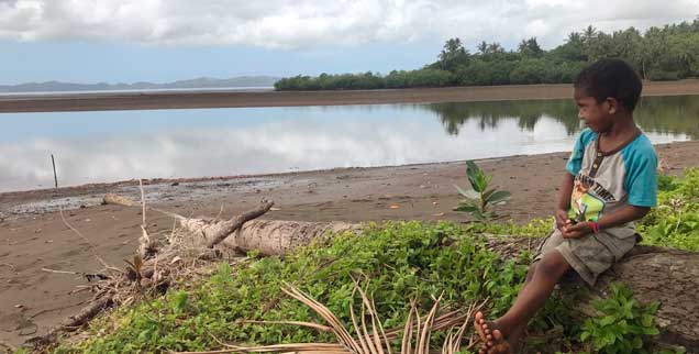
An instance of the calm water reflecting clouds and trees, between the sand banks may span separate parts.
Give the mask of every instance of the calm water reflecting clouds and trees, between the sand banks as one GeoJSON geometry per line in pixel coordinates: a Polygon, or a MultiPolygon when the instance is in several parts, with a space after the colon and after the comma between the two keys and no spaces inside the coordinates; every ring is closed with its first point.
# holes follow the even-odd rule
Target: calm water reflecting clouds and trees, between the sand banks
{"type": "MultiPolygon", "coordinates": [[[[699,97],[645,98],[654,143],[699,137],[699,97]]],[[[0,114],[0,191],[132,178],[382,166],[569,151],[572,100],[0,114]]]]}

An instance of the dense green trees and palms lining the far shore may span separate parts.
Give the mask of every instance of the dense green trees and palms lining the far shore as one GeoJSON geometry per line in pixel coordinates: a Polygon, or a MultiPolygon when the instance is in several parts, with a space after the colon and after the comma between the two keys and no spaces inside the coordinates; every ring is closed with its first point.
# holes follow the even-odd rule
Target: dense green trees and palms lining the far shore
{"type": "Polygon", "coordinates": [[[699,20],[651,27],[634,27],[611,34],[588,26],[573,32],[551,51],[535,37],[523,40],[517,51],[499,43],[478,44],[469,53],[459,38],[446,41],[435,63],[415,70],[388,75],[321,74],[296,76],[275,84],[277,90],[387,89],[444,86],[490,86],[572,82],[587,63],[619,57],[629,62],[644,79],[677,80],[699,75],[699,20]]]}

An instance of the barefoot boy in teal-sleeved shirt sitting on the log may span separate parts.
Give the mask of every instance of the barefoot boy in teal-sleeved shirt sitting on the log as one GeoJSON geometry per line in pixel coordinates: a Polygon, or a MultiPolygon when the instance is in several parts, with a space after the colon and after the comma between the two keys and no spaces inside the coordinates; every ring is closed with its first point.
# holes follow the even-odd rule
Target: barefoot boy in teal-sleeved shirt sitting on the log
{"type": "Polygon", "coordinates": [[[540,247],[512,308],[489,322],[476,313],[481,354],[515,353],[529,320],[569,269],[590,286],[636,243],[633,221],[656,204],[657,156],[633,121],[642,84],[623,60],[602,59],[574,82],[587,123],[566,164],[553,233],[540,247]]]}

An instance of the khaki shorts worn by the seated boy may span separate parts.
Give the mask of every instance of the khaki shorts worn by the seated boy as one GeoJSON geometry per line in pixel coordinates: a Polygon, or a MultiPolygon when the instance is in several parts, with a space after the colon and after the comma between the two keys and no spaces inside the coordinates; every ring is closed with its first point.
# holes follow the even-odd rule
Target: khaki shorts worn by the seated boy
{"type": "Polygon", "coordinates": [[[593,286],[597,277],[631,251],[637,239],[617,237],[604,231],[579,239],[564,239],[561,230],[555,229],[539,246],[534,262],[543,258],[547,252],[556,250],[582,280],[593,286]]]}

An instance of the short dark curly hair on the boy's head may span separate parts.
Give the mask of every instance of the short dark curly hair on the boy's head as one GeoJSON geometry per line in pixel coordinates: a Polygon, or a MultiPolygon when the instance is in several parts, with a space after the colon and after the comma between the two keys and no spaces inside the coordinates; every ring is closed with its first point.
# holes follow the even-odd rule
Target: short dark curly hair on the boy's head
{"type": "Polygon", "coordinates": [[[633,112],[643,89],[636,71],[622,59],[600,59],[587,66],[575,77],[573,85],[595,98],[597,103],[614,98],[629,112],[633,112]]]}

